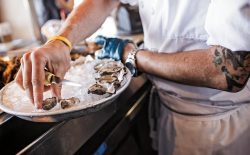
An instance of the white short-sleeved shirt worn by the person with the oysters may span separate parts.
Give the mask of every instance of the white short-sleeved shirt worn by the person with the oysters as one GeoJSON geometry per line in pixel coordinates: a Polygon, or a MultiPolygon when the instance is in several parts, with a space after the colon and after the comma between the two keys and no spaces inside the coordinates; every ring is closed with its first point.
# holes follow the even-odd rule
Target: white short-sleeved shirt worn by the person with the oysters
{"type": "MultiPolygon", "coordinates": [[[[121,0],[138,4],[145,47],[175,53],[221,45],[250,51],[250,0],[121,0]]],[[[188,67],[188,66],[187,66],[188,67]]],[[[239,93],[187,86],[151,77],[158,89],[179,97],[238,103],[249,100],[250,83],[239,93]]]]}

